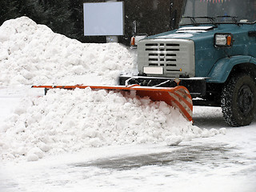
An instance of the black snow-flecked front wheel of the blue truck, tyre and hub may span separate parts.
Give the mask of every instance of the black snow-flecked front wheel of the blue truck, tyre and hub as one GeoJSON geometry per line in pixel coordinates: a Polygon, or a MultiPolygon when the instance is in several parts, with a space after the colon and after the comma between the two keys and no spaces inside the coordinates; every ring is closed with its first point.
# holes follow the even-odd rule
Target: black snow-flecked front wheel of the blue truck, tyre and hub
{"type": "Polygon", "coordinates": [[[256,114],[256,85],[246,74],[230,78],[223,87],[222,114],[230,126],[247,126],[256,114]]]}

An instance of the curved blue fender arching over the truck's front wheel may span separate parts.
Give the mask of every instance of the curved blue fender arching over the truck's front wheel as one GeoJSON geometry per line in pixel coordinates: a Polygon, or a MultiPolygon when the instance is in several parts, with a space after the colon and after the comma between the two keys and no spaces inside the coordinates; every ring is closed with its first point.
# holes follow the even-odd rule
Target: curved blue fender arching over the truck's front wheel
{"type": "Polygon", "coordinates": [[[256,65],[256,59],[251,56],[237,55],[230,58],[221,58],[210,70],[207,82],[223,83],[229,77],[234,66],[241,63],[252,62],[256,65]]]}

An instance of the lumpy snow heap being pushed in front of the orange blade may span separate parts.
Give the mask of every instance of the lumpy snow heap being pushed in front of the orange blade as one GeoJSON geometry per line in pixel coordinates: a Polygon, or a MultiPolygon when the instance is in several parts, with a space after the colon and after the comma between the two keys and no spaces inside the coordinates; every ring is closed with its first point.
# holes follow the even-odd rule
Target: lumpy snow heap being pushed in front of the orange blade
{"type": "Polygon", "coordinates": [[[210,137],[165,102],[123,97],[106,90],[50,90],[40,98],[25,98],[0,127],[3,159],[38,160],[46,154],[86,147],[167,142],[210,137]]]}

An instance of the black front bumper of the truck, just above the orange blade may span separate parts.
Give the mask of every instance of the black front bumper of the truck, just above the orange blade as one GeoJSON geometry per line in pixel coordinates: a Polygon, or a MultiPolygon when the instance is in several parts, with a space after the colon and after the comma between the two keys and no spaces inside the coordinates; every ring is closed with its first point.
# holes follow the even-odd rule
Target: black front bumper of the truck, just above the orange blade
{"type": "MultiPolygon", "coordinates": [[[[178,78],[179,86],[185,86],[190,91],[193,98],[203,97],[206,95],[206,78],[178,78]]],[[[160,86],[174,87],[177,86],[175,78],[159,78],[146,76],[126,76],[119,77],[119,85],[128,86],[138,84],[140,86],[160,86]]]]}

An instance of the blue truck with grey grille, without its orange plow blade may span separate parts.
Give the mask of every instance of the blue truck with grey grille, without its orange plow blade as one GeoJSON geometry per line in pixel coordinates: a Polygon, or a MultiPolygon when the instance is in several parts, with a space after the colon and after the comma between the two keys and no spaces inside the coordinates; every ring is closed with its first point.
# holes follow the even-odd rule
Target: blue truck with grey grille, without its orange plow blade
{"type": "Polygon", "coordinates": [[[186,0],[176,30],[138,42],[138,74],[120,84],[186,86],[230,126],[256,114],[256,0],[186,0]]]}

